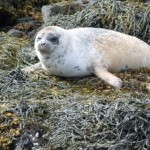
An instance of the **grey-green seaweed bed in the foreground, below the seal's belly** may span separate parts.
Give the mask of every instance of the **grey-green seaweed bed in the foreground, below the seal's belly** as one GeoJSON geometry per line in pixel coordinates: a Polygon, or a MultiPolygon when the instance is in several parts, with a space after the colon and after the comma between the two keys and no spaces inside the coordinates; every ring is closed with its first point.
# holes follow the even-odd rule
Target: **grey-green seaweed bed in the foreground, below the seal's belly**
{"type": "Polygon", "coordinates": [[[150,146],[149,94],[136,87],[141,72],[129,72],[135,81],[129,77],[130,86],[120,91],[95,77],[62,79],[38,72],[27,78],[20,70],[2,74],[0,138],[5,148],[15,143],[18,150],[150,146]]]}

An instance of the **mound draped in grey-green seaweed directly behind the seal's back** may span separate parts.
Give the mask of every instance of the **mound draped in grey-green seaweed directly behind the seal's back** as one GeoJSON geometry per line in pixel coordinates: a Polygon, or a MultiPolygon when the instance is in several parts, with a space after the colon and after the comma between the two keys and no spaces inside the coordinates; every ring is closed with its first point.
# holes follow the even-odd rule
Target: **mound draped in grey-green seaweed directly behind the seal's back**
{"type": "Polygon", "coordinates": [[[150,7],[143,3],[98,0],[74,15],[52,16],[44,26],[64,28],[101,27],[123,32],[149,42],[150,7]]]}

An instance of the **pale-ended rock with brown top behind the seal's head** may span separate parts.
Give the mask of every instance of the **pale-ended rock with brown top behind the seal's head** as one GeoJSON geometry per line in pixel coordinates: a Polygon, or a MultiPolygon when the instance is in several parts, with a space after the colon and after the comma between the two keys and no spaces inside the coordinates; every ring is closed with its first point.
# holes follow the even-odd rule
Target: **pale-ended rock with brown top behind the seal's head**
{"type": "Polygon", "coordinates": [[[45,5],[42,7],[42,15],[44,23],[50,20],[51,16],[64,14],[72,15],[77,11],[81,11],[83,8],[82,4],[79,2],[60,2],[53,5],[45,5]]]}

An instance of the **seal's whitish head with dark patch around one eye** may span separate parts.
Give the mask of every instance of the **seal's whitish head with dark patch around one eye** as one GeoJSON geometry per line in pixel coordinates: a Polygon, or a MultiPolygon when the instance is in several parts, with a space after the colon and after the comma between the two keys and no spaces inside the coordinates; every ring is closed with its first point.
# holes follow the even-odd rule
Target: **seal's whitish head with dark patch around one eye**
{"type": "Polygon", "coordinates": [[[35,50],[38,57],[49,57],[65,43],[66,30],[60,27],[46,27],[38,32],[35,39],[35,50]],[[65,34],[64,34],[65,32],[65,34]]]}

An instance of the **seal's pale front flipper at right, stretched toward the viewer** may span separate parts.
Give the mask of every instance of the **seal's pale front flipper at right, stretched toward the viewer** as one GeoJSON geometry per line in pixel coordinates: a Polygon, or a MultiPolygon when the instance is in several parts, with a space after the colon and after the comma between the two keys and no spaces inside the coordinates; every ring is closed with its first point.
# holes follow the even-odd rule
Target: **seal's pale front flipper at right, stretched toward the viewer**
{"type": "Polygon", "coordinates": [[[108,72],[105,68],[101,68],[101,69],[95,68],[94,74],[98,78],[104,80],[105,82],[107,82],[108,84],[110,84],[111,86],[113,86],[116,89],[120,89],[122,86],[121,79],[116,77],[112,73],[108,72]]]}

